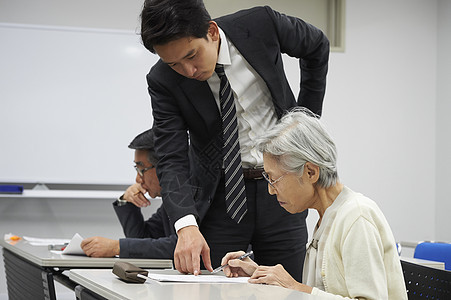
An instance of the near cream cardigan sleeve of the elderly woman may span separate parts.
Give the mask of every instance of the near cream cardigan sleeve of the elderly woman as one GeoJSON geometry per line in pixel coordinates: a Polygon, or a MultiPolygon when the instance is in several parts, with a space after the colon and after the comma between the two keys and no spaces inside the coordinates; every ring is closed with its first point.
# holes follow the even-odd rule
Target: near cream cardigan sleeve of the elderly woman
{"type": "Polygon", "coordinates": [[[388,299],[384,248],[375,224],[361,216],[332,238],[334,257],[324,277],[328,292],[314,288],[312,294],[327,299],[388,299]]]}

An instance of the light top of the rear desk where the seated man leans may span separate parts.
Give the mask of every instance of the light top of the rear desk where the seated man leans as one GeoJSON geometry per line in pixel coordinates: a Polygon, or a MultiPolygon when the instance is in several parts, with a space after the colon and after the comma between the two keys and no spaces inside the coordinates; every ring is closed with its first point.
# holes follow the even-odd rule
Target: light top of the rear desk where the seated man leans
{"type": "Polygon", "coordinates": [[[112,268],[118,260],[127,261],[142,268],[172,269],[170,259],[93,258],[81,255],[62,255],[48,250],[47,246],[32,246],[23,239],[10,243],[3,238],[0,246],[41,267],[58,268],[112,268]]]}

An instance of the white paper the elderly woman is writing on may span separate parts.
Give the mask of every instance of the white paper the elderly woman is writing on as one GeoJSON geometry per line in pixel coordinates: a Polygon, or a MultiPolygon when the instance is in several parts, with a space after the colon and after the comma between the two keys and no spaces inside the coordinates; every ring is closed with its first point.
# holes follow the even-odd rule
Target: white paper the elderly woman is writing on
{"type": "Polygon", "coordinates": [[[221,275],[168,275],[149,273],[150,279],[170,282],[247,283],[249,277],[225,277],[221,275]]]}

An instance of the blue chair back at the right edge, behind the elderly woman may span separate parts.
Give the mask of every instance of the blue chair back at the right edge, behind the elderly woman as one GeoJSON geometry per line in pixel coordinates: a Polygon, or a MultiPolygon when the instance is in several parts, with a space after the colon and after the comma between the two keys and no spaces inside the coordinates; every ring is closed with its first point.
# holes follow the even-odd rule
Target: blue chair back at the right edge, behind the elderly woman
{"type": "Polygon", "coordinates": [[[441,261],[445,270],[451,270],[451,244],[423,242],[415,247],[414,258],[441,261]]]}

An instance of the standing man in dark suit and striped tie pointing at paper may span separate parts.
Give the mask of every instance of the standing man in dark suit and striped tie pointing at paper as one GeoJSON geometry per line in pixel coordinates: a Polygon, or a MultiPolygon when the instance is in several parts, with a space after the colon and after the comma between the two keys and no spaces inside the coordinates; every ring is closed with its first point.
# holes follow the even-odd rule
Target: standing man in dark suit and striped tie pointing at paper
{"type": "Polygon", "coordinates": [[[212,20],[201,0],[146,0],[141,19],[144,46],[161,58],[147,82],[176,268],[198,274],[202,256],[212,270],[251,245],[259,264],[301,280],[307,212],[290,215],[268,194],[255,144],[292,107],[321,114],[327,38],[269,7],[212,20]],[[299,59],[297,99],[282,53],[299,59]]]}

